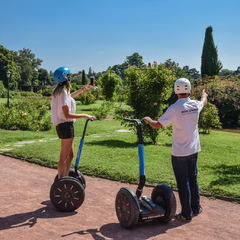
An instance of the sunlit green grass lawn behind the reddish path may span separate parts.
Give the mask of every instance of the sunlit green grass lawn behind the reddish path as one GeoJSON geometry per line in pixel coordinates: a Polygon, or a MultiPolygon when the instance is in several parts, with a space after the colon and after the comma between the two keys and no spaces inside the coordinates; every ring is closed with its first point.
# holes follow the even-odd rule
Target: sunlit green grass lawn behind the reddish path
{"type": "MultiPolygon", "coordinates": [[[[2,99],[0,99],[2,101],[2,99]]],[[[6,99],[5,99],[6,100],[6,99]]],[[[77,105],[77,112],[91,114],[94,105],[77,105]]],[[[100,106],[97,102],[95,106],[100,106]]],[[[112,111],[113,113],[113,111],[112,111]]],[[[75,156],[85,119],[75,123],[75,156]]],[[[103,176],[126,182],[138,182],[137,136],[119,121],[88,123],[79,169],[84,174],[103,176]]],[[[55,128],[48,132],[10,131],[0,129],[0,153],[29,159],[45,166],[57,167],[60,140],[55,128]]],[[[198,160],[200,191],[212,195],[240,198],[240,135],[223,131],[200,134],[202,151],[198,160]]],[[[145,173],[148,184],[164,182],[176,188],[171,166],[171,137],[162,133],[158,144],[146,144],[145,173]]],[[[75,158],[73,160],[73,165],[75,158]]]]}

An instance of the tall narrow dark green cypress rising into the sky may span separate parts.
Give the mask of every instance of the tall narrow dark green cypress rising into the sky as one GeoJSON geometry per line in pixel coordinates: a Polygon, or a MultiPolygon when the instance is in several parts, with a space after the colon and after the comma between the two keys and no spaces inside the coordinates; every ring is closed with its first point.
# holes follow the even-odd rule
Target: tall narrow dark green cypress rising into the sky
{"type": "Polygon", "coordinates": [[[222,63],[218,60],[217,47],[215,47],[212,32],[212,26],[209,26],[205,32],[201,64],[202,76],[218,75],[222,68],[222,63]]]}

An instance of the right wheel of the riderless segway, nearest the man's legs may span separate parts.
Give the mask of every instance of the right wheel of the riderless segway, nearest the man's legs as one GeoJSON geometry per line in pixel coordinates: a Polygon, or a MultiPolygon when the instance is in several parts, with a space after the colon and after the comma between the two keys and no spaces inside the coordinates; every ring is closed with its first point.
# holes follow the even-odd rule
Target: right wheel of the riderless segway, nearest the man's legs
{"type": "Polygon", "coordinates": [[[167,223],[174,218],[177,208],[176,198],[172,189],[167,184],[158,184],[155,186],[151,199],[166,210],[165,215],[158,218],[159,221],[167,223]]]}

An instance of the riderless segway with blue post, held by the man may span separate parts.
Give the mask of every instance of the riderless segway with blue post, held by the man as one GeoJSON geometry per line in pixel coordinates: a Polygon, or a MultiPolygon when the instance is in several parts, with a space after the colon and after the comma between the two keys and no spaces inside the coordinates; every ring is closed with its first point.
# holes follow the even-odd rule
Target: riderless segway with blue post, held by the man
{"type": "Polygon", "coordinates": [[[176,213],[175,195],[167,184],[158,184],[152,191],[151,199],[141,196],[145,185],[142,120],[129,118],[124,120],[137,123],[140,182],[136,193],[129,187],[123,187],[118,191],[115,200],[118,220],[124,228],[132,228],[138,222],[156,218],[167,223],[176,213]]]}

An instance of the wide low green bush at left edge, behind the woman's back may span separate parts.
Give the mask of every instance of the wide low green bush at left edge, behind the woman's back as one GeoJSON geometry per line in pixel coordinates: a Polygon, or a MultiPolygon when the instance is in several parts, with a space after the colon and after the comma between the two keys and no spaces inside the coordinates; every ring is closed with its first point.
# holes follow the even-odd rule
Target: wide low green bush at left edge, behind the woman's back
{"type": "Polygon", "coordinates": [[[48,131],[51,129],[49,99],[25,98],[0,105],[0,128],[7,130],[48,131]]]}

